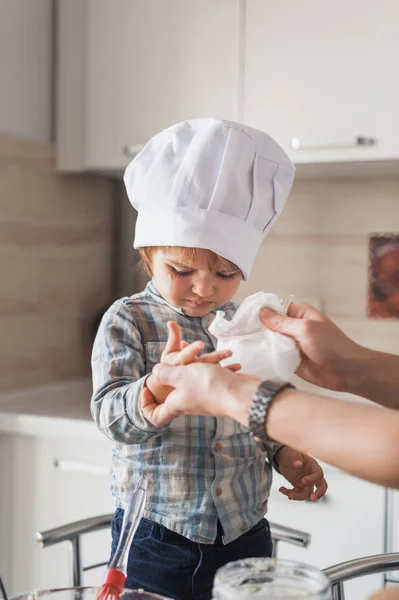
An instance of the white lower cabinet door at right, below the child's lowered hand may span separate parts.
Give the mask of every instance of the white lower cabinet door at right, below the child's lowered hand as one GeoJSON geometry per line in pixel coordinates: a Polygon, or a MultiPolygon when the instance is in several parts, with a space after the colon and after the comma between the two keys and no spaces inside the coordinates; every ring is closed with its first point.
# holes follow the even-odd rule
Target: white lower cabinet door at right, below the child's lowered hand
{"type": "MultiPolygon", "coordinates": [[[[274,475],[267,518],[312,536],[308,548],[280,543],[278,556],[327,568],[383,552],[384,489],[325,468],[327,495],[317,503],[289,501],[278,492],[285,479],[274,475]]],[[[382,575],[345,584],[347,600],[366,600],[383,586],[382,575]]]]}

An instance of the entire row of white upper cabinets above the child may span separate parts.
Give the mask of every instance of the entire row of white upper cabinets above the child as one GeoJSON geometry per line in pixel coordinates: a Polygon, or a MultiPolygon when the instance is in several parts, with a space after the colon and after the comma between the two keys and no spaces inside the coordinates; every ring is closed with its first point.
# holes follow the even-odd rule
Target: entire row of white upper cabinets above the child
{"type": "Polygon", "coordinates": [[[119,174],[162,128],[213,116],[295,163],[397,172],[396,0],[58,0],[57,21],[61,171],[119,174]]]}

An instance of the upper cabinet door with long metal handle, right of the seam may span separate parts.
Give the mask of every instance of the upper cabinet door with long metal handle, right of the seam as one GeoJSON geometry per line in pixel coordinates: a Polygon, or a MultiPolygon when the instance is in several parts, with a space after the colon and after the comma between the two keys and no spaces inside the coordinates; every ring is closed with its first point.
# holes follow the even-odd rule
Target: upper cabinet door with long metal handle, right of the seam
{"type": "Polygon", "coordinates": [[[244,118],[295,162],[397,158],[398,64],[397,0],[246,0],[244,118]]]}

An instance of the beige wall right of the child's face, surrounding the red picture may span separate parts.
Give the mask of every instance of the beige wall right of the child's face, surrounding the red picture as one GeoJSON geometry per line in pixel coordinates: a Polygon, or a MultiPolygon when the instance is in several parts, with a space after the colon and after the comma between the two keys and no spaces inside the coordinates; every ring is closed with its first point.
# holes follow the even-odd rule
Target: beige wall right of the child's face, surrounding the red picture
{"type": "Polygon", "coordinates": [[[315,302],[359,341],[399,353],[399,321],[367,319],[368,236],[399,233],[399,179],[298,180],[239,298],[315,302]]]}

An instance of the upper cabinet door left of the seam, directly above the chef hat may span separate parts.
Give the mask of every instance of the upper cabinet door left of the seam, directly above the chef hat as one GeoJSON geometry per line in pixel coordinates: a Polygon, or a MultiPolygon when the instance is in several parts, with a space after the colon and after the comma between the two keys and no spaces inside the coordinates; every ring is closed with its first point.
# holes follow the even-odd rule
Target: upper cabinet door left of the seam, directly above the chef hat
{"type": "Polygon", "coordinates": [[[124,167],[184,119],[237,120],[239,0],[87,0],[86,10],[86,167],[124,167]]]}

